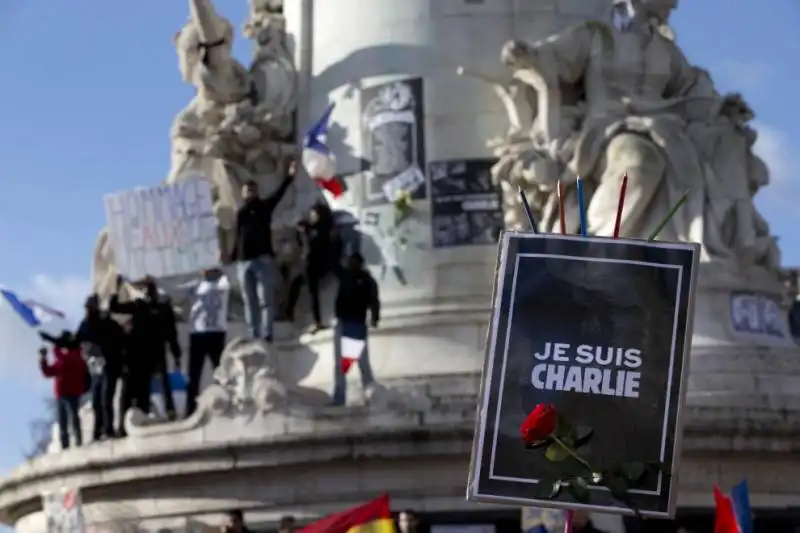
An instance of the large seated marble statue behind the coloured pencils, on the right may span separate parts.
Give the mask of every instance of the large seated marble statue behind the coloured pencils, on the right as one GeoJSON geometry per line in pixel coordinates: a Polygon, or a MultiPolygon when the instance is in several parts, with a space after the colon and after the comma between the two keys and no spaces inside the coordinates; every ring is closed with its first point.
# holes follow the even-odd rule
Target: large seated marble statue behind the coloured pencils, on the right
{"type": "Polygon", "coordinates": [[[561,180],[566,229],[577,232],[581,176],[589,233],[610,236],[627,173],[621,235],[646,238],[689,190],[659,238],[702,243],[702,260],[732,278],[757,272],[777,280],[779,250],[753,205],[768,182],[752,150],[753,113],[689,64],[667,26],[676,7],[677,0],[617,0],[608,21],[504,45],[512,81],[489,81],[510,122],[490,143],[500,158],[493,175],[503,187],[506,225],[527,226],[521,186],[541,231],[558,232],[561,180]]]}

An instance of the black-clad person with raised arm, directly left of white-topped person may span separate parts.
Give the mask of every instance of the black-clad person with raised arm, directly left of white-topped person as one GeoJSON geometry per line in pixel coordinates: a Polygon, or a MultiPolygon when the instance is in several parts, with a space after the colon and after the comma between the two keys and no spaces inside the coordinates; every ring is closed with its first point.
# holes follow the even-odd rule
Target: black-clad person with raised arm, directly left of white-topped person
{"type": "MultiPolygon", "coordinates": [[[[119,276],[117,293],[119,293],[122,282],[122,276],[119,276]]],[[[171,301],[168,298],[162,299],[158,293],[155,280],[146,278],[144,287],[144,298],[122,303],[119,301],[119,295],[114,294],[109,304],[111,313],[130,316],[126,388],[136,407],[149,413],[150,382],[156,374],[159,374],[162,380],[167,416],[174,419],[175,402],[169,382],[165,348],[169,344],[175,359],[175,367],[180,368],[181,347],[178,343],[175,311],[172,309],[171,301]]]]}

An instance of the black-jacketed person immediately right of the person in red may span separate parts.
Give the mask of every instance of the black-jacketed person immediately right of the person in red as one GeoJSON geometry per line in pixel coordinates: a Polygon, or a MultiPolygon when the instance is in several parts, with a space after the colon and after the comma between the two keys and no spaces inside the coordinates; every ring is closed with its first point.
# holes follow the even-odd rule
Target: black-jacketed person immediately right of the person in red
{"type": "Polygon", "coordinates": [[[92,383],[94,440],[114,436],[114,395],[122,377],[124,332],[122,326],[100,309],[96,294],[86,299],[86,314],[75,334],[89,345],[90,363],[97,375],[92,383]]]}

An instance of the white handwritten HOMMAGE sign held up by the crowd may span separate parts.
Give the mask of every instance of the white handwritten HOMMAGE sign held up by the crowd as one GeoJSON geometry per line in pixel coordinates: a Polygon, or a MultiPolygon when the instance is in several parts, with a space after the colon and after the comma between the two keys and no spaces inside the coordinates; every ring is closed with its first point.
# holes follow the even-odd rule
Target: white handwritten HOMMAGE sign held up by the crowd
{"type": "Polygon", "coordinates": [[[208,181],[189,179],[114,193],[106,196],[105,204],[114,258],[127,278],[162,278],[218,264],[208,181]]]}

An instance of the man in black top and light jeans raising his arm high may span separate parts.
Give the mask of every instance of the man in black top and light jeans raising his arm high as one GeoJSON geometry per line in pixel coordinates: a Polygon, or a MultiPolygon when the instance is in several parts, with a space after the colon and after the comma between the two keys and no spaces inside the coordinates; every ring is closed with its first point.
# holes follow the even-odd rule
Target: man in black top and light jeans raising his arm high
{"type": "MultiPolygon", "coordinates": [[[[272,195],[260,198],[258,183],[242,186],[244,203],[236,213],[236,239],[232,257],[244,299],[245,320],[254,339],[272,342],[275,322],[275,251],[272,247],[272,214],[289,188],[297,162],[286,162],[286,177],[272,195]]],[[[220,254],[222,262],[226,262],[220,254]]]]}

